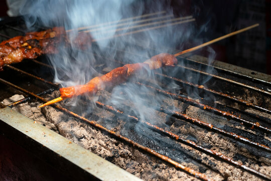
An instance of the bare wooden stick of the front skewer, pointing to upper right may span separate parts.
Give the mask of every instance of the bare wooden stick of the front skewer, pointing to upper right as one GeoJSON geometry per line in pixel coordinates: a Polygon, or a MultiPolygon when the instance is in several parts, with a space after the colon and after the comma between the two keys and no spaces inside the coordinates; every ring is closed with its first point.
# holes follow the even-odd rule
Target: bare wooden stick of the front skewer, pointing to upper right
{"type": "Polygon", "coordinates": [[[196,47],[193,47],[193,48],[184,50],[184,51],[182,51],[182,52],[176,53],[176,54],[174,54],[174,56],[177,57],[177,56],[179,56],[179,55],[183,55],[183,54],[188,53],[188,52],[196,51],[196,50],[198,50],[198,49],[200,49],[200,48],[203,48],[203,47],[205,47],[205,46],[208,46],[208,45],[210,45],[210,44],[212,44],[212,43],[215,43],[215,42],[217,42],[217,41],[220,41],[220,40],[223,40],[223,39],[225,39],[225,38],[231,37],[231,36],[236,35],[236,34],[238,34],[238,33],[242,33],[242,32],[244,32],[244,31],[250,30],[250,29],[255,28],[255,27],[257,27],[257,26],[259,26],[259,24],[255,24],[255,25],[252,25],[252,26],[243,28],[243,29],[241,29],[241,30],[238,30],[238,31],[229,33],[229,34],[224,35],[224,36],[222,36],[222,37],[219,37],[219,38],[216,38],[216,39],[211,40],[211,41],[209,41],[209,42],[206,42],[206,43],[204,43],[204,44],[201,44],[201,45],[198,45],[198,46],[196,46],[196,47]]]}

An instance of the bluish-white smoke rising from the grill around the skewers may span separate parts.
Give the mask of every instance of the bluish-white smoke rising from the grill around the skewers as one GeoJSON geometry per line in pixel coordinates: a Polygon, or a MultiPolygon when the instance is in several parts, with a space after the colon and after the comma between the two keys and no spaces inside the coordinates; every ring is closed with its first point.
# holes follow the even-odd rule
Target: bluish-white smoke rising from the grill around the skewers
{"type": "MultiPolygon", "coordinates": [[[[59,53],[49,56],[51,64],[55,67],[54,81],[61,83],[65,87],[88,82],[94,76],[99,75],[99,72],[101,72],[101,69],[98,70],[99,67],[115,68],[120,66],[112,59],[122,61],[124,64],[143,62],[158,53],[173,53],[175,48],[182,47],[179,45],[182,45],[185,40],[191,37],[193,32],[197,31],[192,23],[178,26],[169,25],[152,31],[144,31],[140,34],[104,39],[104,37],[112,37],[129,32],[130,29],[122,29],[118,32],[116,32],[116,29],[132,27],[140,18],[129,19],[129,21],[125,21],[125,26],[120,27],[112,26],[113,24],[110,22],[117,23],[125,18],[162,11],[165,12],[163,15],[177,18],[174,17],[172,8],[166,1],[145,2],[136,0],[32,0],[24,1],[21,4],[20,14],[27,14],[25,20],[31,30],[35,30],[34,28],[37,27],[37,24],[44,27],[62,26],[65,30],[73,30],[67,33],[71,46],[68,48],[59,46],[59,53]],[[95,44],[84,51],[79,50],[72,44],[72,38],[82,30],[82,27],[95,29],[95,31],[89,31],[89,36],[97,40],[95,44]],[[103,40],[99,41],[100,39],[103,40]]],[[[162,70],[158,71],[161,72],[162,70]]],[[[155,83],[153,72],[148,72],[148,75],[151,76],[152,82],[155,83]]],[[[174,93],[181,89],[175,83],[169,83],[169,86],[171,87],[171,92],[174,93]]],[[[154,108],[163,104],[162,96],[153,96],[155,93],[150,91],[150,89],[134,85],[133,83],[113,88],[112,97],[108,104],[120,106],[125,102],[125,99],[128,99],[131,101],[130,104],[133,110],[126,110],[127,113],[133,112],[137,117],[145,120],[146,117],[156,113],[154,109],[146,109],[146,106],[144,106],[146,105],[146,99],[142,98],[142,94],[152,95],[151,103],[148,105],[152,105],[154,108]],[[121,94],[125,94],[125,98],[121,94]]],[[[76,102],[74,100],[71,101],[70,105],[75,105],[76,102]]]]}

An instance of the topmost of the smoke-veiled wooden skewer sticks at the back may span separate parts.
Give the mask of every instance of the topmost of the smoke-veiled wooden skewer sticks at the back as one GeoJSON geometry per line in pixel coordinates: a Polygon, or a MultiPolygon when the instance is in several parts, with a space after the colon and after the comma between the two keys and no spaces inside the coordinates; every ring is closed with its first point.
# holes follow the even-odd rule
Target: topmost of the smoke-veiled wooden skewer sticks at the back
{"type": "Polygon", "coordinates": [[[91,28],[103,26],[103,25],[111,25],[111,24],[114,24],[114,23],[120,23],[120,22],[124,22],[124,21],[134,20],[134,19],[137,19],[137,18],[145,18],[145,17],[159,15],[159,14],[164,14],[164,13],[166,13],[166,12],[165,11],[161,11],[161,12],[156,12],[156,13],[150,13],[150,14],[145,14],[145,15],[141,15],[141,16],[136,16],[136,17],[131,17],[131,18],[125,18],[125,19],[118,20],[118,21],[101,23],[101,24],[98,24],[98,25],[92,25],[92,26],[87,26],[87,27],[80,27],[80,28],[77,28],[77,29],[70,29],[70,30],[67,30],[66,32],[70,32],[70,31],[73,31],[73,30],[86,30],[86,29],[91,29],[91,28]]]}

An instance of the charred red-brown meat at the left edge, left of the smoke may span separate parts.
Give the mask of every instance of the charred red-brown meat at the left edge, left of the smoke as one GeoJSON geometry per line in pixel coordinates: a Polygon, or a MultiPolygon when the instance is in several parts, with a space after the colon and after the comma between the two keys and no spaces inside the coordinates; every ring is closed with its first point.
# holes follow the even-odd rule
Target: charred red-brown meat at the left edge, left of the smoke
{"type": "Polygon", "coordinates": [[[5,64],[34,59],[44,53],[56,52],[55,43],[65,34],[64,28],[55,27],[41,32],[26,33],[0,43],[0,70],[5,64]]]}

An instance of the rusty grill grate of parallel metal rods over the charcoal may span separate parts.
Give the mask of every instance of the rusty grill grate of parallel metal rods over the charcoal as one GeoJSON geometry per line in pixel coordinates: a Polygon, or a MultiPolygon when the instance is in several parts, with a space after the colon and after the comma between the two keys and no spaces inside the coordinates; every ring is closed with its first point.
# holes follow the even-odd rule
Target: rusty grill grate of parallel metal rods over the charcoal
{"type": "MultiPolygon", "coordinates": [[[[23,33],[24,31],[17,28],[17,27],[13,27],[12,25],[7,25],[5,24],[4,27],[7,29],[12,29],[14,31],[18,31],[18,34],[19,35],[20,33],[23,33]]],[[[2,29],[4,29],[4,27],[2,29]]],[[[5,32],[5,31],[4,31],[5,32]]],[[[5,35],[5,34],[0,34],[0,36],[4,37],[4,38],[9,38],[8,35],[5,35]]],[[[129,52],[128,52],[129,53],[129,52]]],[[[95,55],[95,54],[94,54],[95,55]]],[[[98,56],[98,55],[97,55],[98,56]]],[[[99,55],[100,56],[100,55],[99,55]]],[[[140,56],[140,55],[138,55],[140,56]]],[[[103,58],[106,58],[106,57],[103,57],[103,58]]],[[[179,77],[172,77],[170,75],[166,75],[164,73],[159,73],[159,72],[155,72],[155,75],[156,77],[158,78],[165,78],[167,80],[170,80],[170,81],[175,81],[175,82],[178,82],[179,84],[182,84],[182,85],[188,85],[188,86],[191,86],[192,88],[196,88],[196,89],[199,89],[201,91],[204,91],[206,93],[212,93],[214,94],[215,96],[219,96],[219,97],[222,97],[222,99],[226,98],[232,102],[235,102],[235,103],[238,103],[240,105],[243,105],[245,107],[250,107],[250,108],[253,108],[255,110],[258,110],[260,112],[264,112],[267,114],[266,117],[262,117],[262,116],[259,116],[259,115],[256,115],[256,114],[252,114],[252,113],[246,113],[246,112],[242,112],[240,110],[237,110],[237,109],[233,109],[233,108],[229,108],[231,110],[234,110],[234,113],[230,113],[229,111],[224,111],[222,109],[218,109],[217,107],[214,107],[214,106],[209,106],[208,104],[203,104],[203,103],[200,103],[200,102],[197,102],[193,99],[189,99],[187,98],[187,96],[182,96],[182,95],[177,95],[177,94],[172,94],[172,93],[169,93],[167,91],[163,91],[159,88],[156,88],[154,86],[151,86],[151,85],[148,85],[148,84],[145,84],[143,83],[143,81],[139,81],[139,82],[135,82],[136,84],[138,84],[139,86],[144,86],[144,87],[148,87],[150,89],[154,89],[156,92],[158,92],[159,94],[162,94],[162,95],[165,95],[165,96],[168,96],[168,97],[171,97],[175,100],[178,100],[178,101],[181,101],[181,102],[184,102],[184,103],[187,103],[189,105],[192,105],[194,107],[198,107],[204,111],[208,111],[208,112],[211,112],[211,113],[215,113],[221,117],[226,117],[228,119],[232,119],[234,121],[237,121],[239,123],[241,123],[242,125],[244,126],[248,126],[250,127],[251,129],[257,129],[258,130],[258,133],[259,134],[265,134],[266,136],[269,136],[270,135],[270,119],[268,118],[268,115],[271,113],[271,111],[269,110],[269,106],[268,105],[268,96],[271,95],[270,91],[268,91],[270,89],[270,82],[266,81],[266,80],[261,80],[261,79],[257,79],[255,77],[252,77],[252,76],[246,76],[246,75],[243,75],[243,74],[240,74],[240,73],[234,73],[233,71],[230,71],[230,70],[226,70],[226,69],[222,69],[222,68],[217,68],[213,65],[204,65],[204,66],[213,66],[213,68],[217,68],[218,71],[224,71],[223,73],[224,74],[227,74],[225,77],[223,76],[220,76],[220,75],[215,75],[215,74],[210,74],[208,72],[205,72],[204,70],[201,70],[201,66],[203,65],[202,62],[200,61],[197,61],[197,60],[193,60],[193,59],[189,59],[189,58],[179,58],[179,61],[182,61],[182,62],[189,62],[186,66],[184,65],[178,65],[176,68],[182,68],[183,71],[185,70],[185,72],[187,71],[191,71],[191,72],[197,72],[197,73],[201,73],[203,75],[207,75],[207,76],[211,76],[211,81],[214,79],[219,79],[220,81],[227,81],[229,82],[229,84],[237,84],[237,86],[243,86],[245,87],[246,89],[252,89],[252,92],[257,92],[256,94],[258,95],[261,95],[263,98],[265,98],[267,96],[267,106],[264,107],[264,106],[258,106],[258,105],[255,105],[255,104],[252,104],[246,100],[243,100],[243,99],[239,99],[239,98],[236,98],[234,96],[231,96],[231,95],[228,95],[228,94],[225,94],[225,93],[222,93],[222,92],[219,92],[219,91],[216,91],[215,88],[207,88],[206,86],[203,86],[203,85],[199,85],[197,83],[193,83],[193,81],[187,81],[187,80],[183,80],[183,79],[180,79],[179,77]],[[190,67],[188,67],[190,66],[190,67]],[[236,76],[237,78],[235,79],[230,79],[229,77],[231,76],[236,76]],[[242,79],[242,80],[240,80],[242,79]],[[240,80],[240,81],[238,81],[240,80]],[[244,83],[246,82],[246,83],[244,83]],[[262,85],[262,83],[264,85],[262,85]],[[243,118],[245,116],[243,115],[248,115],[246,118],[243,118]],[[253,117],[251,119],[249,119],[250,117],[253,117]]],[[[40,62],[40,61],[37,61],[37,60],[32,60],[32,62],[34,64],[39,64],[41,65],[42,67],[47,67],[47,68],[52,68],[50,65],[48,64],[45,64],[43,62],[40,62]]],[[[118,61],[116,61],[118,62],[118,61]]],[[[22,63],[27,63],[27,62],[22,62],[22,63]]],[[[119,64],[123,64],[123,62],[118,62],[119,64]]],[[[55,91],[57,89],[57,87],[59,87],[58,84],[54,84],[52,83],[51,81],[49,80],[46,80],[44,78],[41,78],[39,76],[36,76],[36,75],[33,75],[31,73],[28,73],[24,70],[21,70],[19,68],[16,68],[14,66],[11,66],[11,65],[6,65],[5,68],[4,68],[4,73],[7,69],[10,69],[10,70],[13,70],[13,71],[17,71],[18,73],[20,74],[24,74],[25,76],[29,76],[33,79],[36,79],[37,81],[41,81],[45,84],[48,84],[50,86],[50,88],[46,89],[45,91],[42,91],[41,93],[38,93],[38,94],[35,94],[31,91],[27,91],[27,89],[21,87],[21,86],[17,86],[16,84],[14,83],[11,83],[10,81],[8,80],[5,80],[3,78],[0,78],[0,82],[10,86],[10,87],[13,87],[15,89],[17,89],[18,91],[22,92],[22,93],[25,93],[26,95],[28,95],[29,97],[25,98],[25,99],[22,99],[20,101],[17,101],[15,103],[12,103],[8,106],[10,107],[15,107],[19,104],[22,104],[22,103],[25,103],[27,101],[30,101],[30,100],[33,100],[33,98],[35,99],[38,99],[39,101],[42,101],[42,102],[47,102],[47,100],[45,100],[44,98],[40,97],[42,95],[47,95],[53,91],[55,91]]],[[[3,74],[4,74],[3,73],[3,74]]],[[[170,74],[169,72],[167,72],[168,74],[170,74]]],[[[222,74],[223,74],[222,73],[222,74]]],[[[235,85],[236,86],[236,85],[235,85]]],[[[235,91],[235,89],[233,89],[233,92],[235,91]]],[[[188,95],[190,96],[190,95],[188,95]]],[[[81,98],[83,99],[83,98],[81,98]]],[[[87,102],[87,100],[83,100],[85,102],[87,102]]],[[[204,102],[204,100],[202,100],[201,102],[204,102]]],[[[212,104],[214,104],[214,102],[211,101],[212,104]]],[[[167,136],[167,137],[170,137],[176,141],[179,141],[181,143],[184,143],[192,148],[195,148],[201,152],[204,152],[208,155],[211,155],[217,159],[220,159],[222,161],[225,161],[227,163],[230,163],[236,167],[239,167],[247,172],[250,172],[258,177],[261,177],[263,179],[271,179],[271,177],[267,174],[263,174],[261,173],[260,171],[257,171],[253,168],[250,168],[248,166],[246,166],[245,164],[242,164],[238,161],[234,161],[233,158],[230,158],[230,157],[227,157],[226,155],[224,155],[223,153],[219,152],[219,151],[215,151],[213,149],[208,149],[204,146],[201,146],[197,143],[195,143],[194,141],[191,141],[191,140],[188,140],[188,139],[185,139],[183,136],[181,135],[177,135],[177,134],[174,134],[170,131],[166,131],[165,129],[163,128],[160,128],[158,126],[155,126],[155,125],[152,125],[150,124],[149,122],[146,122],[144,120],[140,120],[138,119],[137,117],[135,116],[132,116],[132,115],[129,115],[129,114],[126,114],[122,111],[120,111],[119,109],[117,108],[114,108],[110,105],[106,105],[106,104],[103,104],[101,102],[96,102],[96,105],[100,108],[103,108],[109,112],[112,112],[120,117],[125,117],[125,118],[129,118],[129,119],[132,119],[136,122],[140,122],[142,124],[144,124],[146,127],[150,128],[151,130],[154,130],[156,132],[159,132],[159,133],[162,133],[163,135],[167,136]]],[[[223,105],[224,106],[224,105],[223,105]]],[[[146,152],[148,152],[149,154],[152,154],[168,163],[171,163],[173,164],[174,166],[180,168],[180,169],[183,169],[184,171],[194,175],[195,177],[198,177],[198,178],[201,178],[203,180],[208,180],[209,178],[205,175],[205,174],[202,174],[200,172],[197,172],[195,171],[194,169],[192,168],[189,168],[189,167],[186,167],[180,163],[178,163],[177,161],[174,161],[174,159],[171,159],[169,158],[168,156],[166,155],[162,155],[158,152],[156,152],[155,150],[153,149],[150,149],[146,146],[143,146],[119,133],[116,133],[112,130],[109,130],[107,129],[106,127],[103,127],[102,125],[98,124],[97,122],[95,121],[91,121],[91,120],[88,120],[86,119],[85,117],[82,117],[82,116],[79,116],[78,114],[74,113],[74,112],[71,112],[69,111],[68,109],[65,109],[61,106],[58,106],[58,105],[53,105],[54,108],[62,111],[62,112],[65,112],[67,113],[68,115],[72,116],[72,117],[75,117],[81,121],[84,121],[86,123],[89,123],[91,125],[93,125],[94,127],[97,127],[113,136],[116,136],[118,137],[119,139],[129,143],[129,144],[132,144],[134,145],[135,147],[139,148],[139,149],[142,149],[146,152]]],[[[226,106],[225,106],[226,107],[226,106]]],[[[228,108],[226,108],[228,109],[228,108]]],[[[213,126],[212,124],[210,123],[207,123],[207,122],[204,122],[202,120],[199,120],[199,119],[195,119],[195,118],[192,118],[186,114],[183,114],[183,113],[180,113],[180,112],[177,112],[177,111],[171,111],[169,109],[166,109],[166,108],[163,108],[163,107],[160,107],[159,109],[157,109],[157,111],[160,111],[160,112],[163,112],[163,113],[166,113],[168,114],[169,116],[173,116],[175,118],[178,118],[178,119],[181,119],[181,120],[185,120],[185,121],[188,121],[190,122],[191,124],[195,124],[195,125],[198,125],[204,129],[207,129],[207,130],[210,130],[212,132],[217,132],[221,135],[224,135],[226,137],[229,137],[229,138],[233,138],[235,140],[238,140],[240,142],[243,142],[245,143],[246,145],[248,146],[253,146],[255,147],[256,149],[259,149],[259,150],[264,150],[266,151],[267,153],[269,153],[271,151],[271,148],[268,146],[270,145],[270,142],[267,142],[267,143],[264,143],[262,141],[259,140],[259,142],[256,142],[254,140],[250,140],[249,138],[247,137],[244,137],[244,136],[241,136],[237,133],[234,133],[234,132],[229,132],[229,131],[226,131],[224,129],[221,129],[221,128],[218,128],[216,126],[213,126]]],[[[249,128],[248,128],[249,129],[249,128]]]]}

